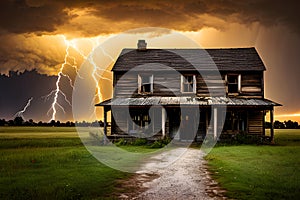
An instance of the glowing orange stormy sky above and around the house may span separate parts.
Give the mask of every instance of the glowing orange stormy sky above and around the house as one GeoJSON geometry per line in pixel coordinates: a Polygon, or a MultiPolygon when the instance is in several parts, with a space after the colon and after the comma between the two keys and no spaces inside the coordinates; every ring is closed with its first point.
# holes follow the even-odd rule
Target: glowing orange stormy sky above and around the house
{"type": "MultiPolygon", "coordinates": [[[[98,44],[130,29],[160,27],[166,31],[153,29],[153,37],[171,30],[203,48],[255,47],[267,68],[265,97],[283,105],[275,119],[300,122],[298,10],[295,0],[2,0],[0,73],[37,69],[61,79],[67,74],[74,84],[76,70],[98,44]]],[[[172,45],[181,47],[180,41],[172,45]]],[[[108,98],[107,88],[101,92],[108,98]]],[[[63,97],[56,89],[49,101],[63,97]]],[[[65,120],[59,105],[47,104],[46,118],[65,120]]]]}

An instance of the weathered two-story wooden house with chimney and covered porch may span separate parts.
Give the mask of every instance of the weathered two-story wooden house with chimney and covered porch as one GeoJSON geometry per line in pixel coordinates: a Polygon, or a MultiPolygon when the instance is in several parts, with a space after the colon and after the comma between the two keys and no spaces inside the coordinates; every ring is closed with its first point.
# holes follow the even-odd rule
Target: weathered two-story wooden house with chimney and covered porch
{"type": "Polygon", "coordinates": [[[265,70],[255,48],[147,49],[140,40],[137,49],[123,49],[112,68],[113,98],[97,104],[104,107],[104,131],[113,107],[111,134],[188,140],[221,129],[264,135],[265,115],[270,112],[273,124],[279,105],[264,98],[265,70]]]}

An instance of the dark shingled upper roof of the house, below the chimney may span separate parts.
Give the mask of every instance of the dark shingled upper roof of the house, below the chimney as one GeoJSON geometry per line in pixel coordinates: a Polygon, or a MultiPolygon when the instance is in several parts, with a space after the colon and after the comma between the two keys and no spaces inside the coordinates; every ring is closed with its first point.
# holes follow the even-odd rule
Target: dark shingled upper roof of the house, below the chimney
{"type": "MultiPolygon", "coordinates": [[[[228,49],[123,49],[112,71],[128,71],[143,64],[162,64],[177,71],[263,71],[254,47],[228,49]]],[[[143,70],[157,70],[153,65],[143,70]]]]}

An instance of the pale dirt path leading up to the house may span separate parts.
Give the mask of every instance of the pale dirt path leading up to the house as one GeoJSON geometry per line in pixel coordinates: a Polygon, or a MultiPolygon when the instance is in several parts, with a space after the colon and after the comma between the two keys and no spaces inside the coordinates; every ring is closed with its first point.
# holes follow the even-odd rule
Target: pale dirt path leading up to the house
{"type": "MultiPolygon", "coordinates": [[[[182,150],[172,151],[178,155],[182,150]]],[[[226,199],[223,196],[225,191],[206,170],[206,161],[200,150],[189,148],[178,160],[164,167],[166,156],[170,157],[170,153],[151,158],[133,181],[139,187],[139,194],[123,195],[121,199],[226,199]]]]}

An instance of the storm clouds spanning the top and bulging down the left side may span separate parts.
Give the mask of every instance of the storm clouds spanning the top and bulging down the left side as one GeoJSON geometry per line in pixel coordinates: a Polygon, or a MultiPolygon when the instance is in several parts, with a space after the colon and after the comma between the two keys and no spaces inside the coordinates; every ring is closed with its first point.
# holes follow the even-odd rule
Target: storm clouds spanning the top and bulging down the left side
{"type": "Polygon", "coordinates": [[[0,1],[0,72],[37,68],[54,74],[68,39],[140,27],[226,31],[229,24],[283,25],[300,34],[297,1],[272,0],[3,0],[0,1]],[[51,37],[53,36],[53,37],[51,37]],[[56,37],[54,37],[56,36],[56,37]]]}

